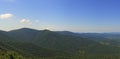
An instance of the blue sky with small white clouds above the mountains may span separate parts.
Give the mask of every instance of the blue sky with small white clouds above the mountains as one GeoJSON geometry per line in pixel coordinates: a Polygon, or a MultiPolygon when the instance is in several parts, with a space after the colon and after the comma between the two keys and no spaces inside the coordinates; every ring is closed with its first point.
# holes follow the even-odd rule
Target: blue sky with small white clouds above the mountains
{"type": "Polygon", "coordinates": [[[119,0],[0,0],[0,30],[120,32],[119,0]]]}

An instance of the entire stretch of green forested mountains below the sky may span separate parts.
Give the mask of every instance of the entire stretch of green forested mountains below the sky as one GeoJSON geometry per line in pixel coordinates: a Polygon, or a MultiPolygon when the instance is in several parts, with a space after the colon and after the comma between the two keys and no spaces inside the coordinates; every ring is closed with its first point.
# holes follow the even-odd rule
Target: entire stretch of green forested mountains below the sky
{"type": "Polygon", "coordinates": [[[0,31],[0,59],[120,59],[120,33],[0,31]]]}

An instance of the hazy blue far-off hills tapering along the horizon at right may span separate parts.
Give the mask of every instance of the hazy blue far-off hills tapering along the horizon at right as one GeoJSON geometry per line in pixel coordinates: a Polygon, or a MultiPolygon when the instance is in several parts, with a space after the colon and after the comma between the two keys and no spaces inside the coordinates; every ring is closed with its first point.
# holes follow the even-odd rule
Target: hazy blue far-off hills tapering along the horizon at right
{"type": "Polygon", "coordinates": [[[114,46],[120,46],[120,33],[111,32],[111,33],[73,33],[69,31],[59,31],[58,33],[62,35],[71,35],[77,37],[83,37],[91,39],[98,42],[107,42],[114,46]]]}

